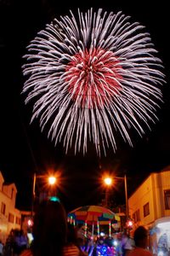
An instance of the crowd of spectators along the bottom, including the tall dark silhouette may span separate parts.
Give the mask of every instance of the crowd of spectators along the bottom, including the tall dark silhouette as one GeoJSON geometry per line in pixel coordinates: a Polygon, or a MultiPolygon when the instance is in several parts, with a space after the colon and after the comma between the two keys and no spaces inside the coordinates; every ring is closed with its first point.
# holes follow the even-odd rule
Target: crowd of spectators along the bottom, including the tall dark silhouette
{"type": "Polygon", "coordinates": [[[77,236],[77,229],[67,222],[65,208],[59,201],[42,201],[37,208],[32,227],[33,241],[28,246],[22,230],[12,230],[3,256],[151,256],[147,250],[147,230],[140,226],[134,231],[134,244],[125,234],[114,240],[99,237],[91,241],[77,236]],[[115,243],[114,243],[115,242],[115,243]]]}

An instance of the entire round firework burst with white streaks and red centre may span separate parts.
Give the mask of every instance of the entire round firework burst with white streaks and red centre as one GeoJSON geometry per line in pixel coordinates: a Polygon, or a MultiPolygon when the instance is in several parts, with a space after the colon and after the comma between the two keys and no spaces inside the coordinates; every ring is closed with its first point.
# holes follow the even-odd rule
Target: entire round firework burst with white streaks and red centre
{"type": "Polygon", "coordinates": [[[144,26],[129,16],[89,9],[78,17],[60,17],[37,34],[28,46],[23,73],[26,103],[34,99],[32,118],[48,137],[63,141],[75,154],[94,143],[97,154],[112,146],[116,135],[133,145],[128,130],[142,137],[142,124],[156,120],[161,60],[144,26]]]}

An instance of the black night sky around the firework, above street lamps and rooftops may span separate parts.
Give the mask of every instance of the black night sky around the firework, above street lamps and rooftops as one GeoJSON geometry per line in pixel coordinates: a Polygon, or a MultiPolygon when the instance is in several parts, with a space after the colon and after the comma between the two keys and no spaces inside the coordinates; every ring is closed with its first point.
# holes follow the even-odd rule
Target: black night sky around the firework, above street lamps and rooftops
{"type": "MultiPolygon", "coordinates": [[[[169,88],[169,14],[167,1],[69,1],[57,0],[0,0],[0,170],[7,182],[16,183],[17,207],[31,206],[31,183],[34,172],[46,173],[49,168],[61,170],[60,196],[68,210],[101,201],[99,177],[109,170],[116,176],[127,173],[130,195],[150,172],[158,172],[170,165],[170,88],[169,88]],[[128,2],[128,3],[126,3],[128,2]],[[25,79],[21,73],[26,46],[46,23],[59,15],[67,15],[69,9],[87,10],[103,8],[117,12],[122,10],[133,20],[139,21],[150,32],[152,42],[163,61],[167,84],[162,88],[163,101],[157,116],[159,121],[151,125],[143,138],[133,136],[133,148],[117,137],[116,154],[110,150],[107,157],[96,156],[94,148],[88,154],[65,155],[62,145],[54,147],[47,134],[40,131],[38,121],[30,125],[31,105],[25,105],[21,95],[25,79]]],[[[113,189],[113,201],[122,203],[122,187],[113,189]]]]}

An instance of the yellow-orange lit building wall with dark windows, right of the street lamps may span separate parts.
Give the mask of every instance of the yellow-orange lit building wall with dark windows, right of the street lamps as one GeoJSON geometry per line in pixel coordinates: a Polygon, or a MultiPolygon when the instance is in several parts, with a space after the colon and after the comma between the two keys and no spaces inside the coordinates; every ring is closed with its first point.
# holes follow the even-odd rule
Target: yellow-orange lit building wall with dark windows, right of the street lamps
{"type": "Polygon", "coordinates": [[[170,168],[151,173],[129,197],[128,207],[134,228],[150,228],[157,219],[170,216],[170,168]]]}

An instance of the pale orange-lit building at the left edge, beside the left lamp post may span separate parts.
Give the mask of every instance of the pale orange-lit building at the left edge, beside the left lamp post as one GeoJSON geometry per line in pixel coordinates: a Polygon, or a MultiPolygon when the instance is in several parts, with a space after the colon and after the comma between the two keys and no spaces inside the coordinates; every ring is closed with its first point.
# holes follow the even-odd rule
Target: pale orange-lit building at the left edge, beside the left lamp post
{"type": "Polygon", "coordinates": [[[20,230],[21,213],[15,208],[17,189],[14,183],[5,183],[0,172],[0,240],[5,242],[11,230],[20,230]]]}

